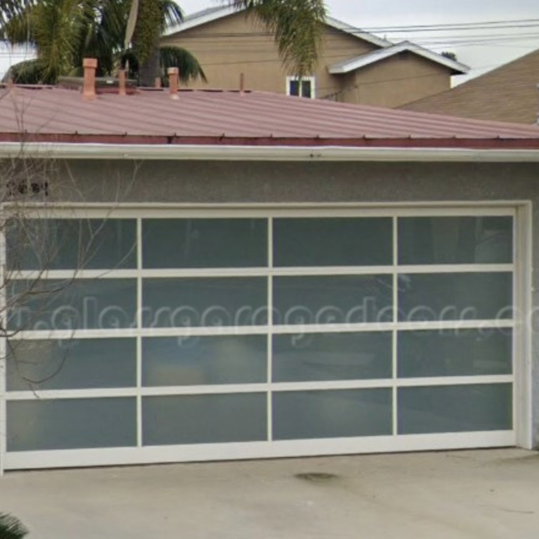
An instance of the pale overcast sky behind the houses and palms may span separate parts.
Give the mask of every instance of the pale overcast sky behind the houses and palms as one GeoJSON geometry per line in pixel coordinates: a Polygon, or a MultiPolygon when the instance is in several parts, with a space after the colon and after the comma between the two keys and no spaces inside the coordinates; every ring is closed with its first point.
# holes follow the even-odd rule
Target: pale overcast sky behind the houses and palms
{"type": "MultiPolygon", "coordinates": [[[[185,14],[218,6],[220,0],[179,0],[185,14]]],[[[364,29],[440,25],[463,22],[539,20],[539,0],[327,0],[330,15],[364,29]]],[[[453,51],[477,76],[498,65],[539,48],[539,23],[520,28],[451,29],[446,32],[375,32],[390,41],[411,39],[434,51],[453,51]],[[481,42],[482,41],[482,42],[481,42]]],[[[0,72],[22,59],[20,54],[0,52],[0,72]]],[[[455,82],[466,77],[454,77],[455,82]]],[[[539,79],[539,74],[538,74],[539,79]]],[[[538,81],[539,82],[539,81],[538,81]]]]}

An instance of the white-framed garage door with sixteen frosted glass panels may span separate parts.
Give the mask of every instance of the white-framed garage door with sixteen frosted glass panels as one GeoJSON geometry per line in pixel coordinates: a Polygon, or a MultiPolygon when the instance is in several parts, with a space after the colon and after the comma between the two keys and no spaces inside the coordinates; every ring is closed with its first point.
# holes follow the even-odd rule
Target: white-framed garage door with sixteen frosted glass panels
{"type": "Polygon", "coordinates": [[[148,213],[6,237],[5,469],[514,445],[512,211],[148,213]]]}

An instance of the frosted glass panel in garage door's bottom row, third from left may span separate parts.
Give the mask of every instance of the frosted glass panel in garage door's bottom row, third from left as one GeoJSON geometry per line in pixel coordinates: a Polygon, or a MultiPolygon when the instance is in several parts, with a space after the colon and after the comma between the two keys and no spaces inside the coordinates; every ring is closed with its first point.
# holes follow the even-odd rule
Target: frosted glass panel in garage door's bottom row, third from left
{"type": "Polygon", "coordinates": [[[274,392],[277,440],[392,434],[392,390],[274,392]]]}

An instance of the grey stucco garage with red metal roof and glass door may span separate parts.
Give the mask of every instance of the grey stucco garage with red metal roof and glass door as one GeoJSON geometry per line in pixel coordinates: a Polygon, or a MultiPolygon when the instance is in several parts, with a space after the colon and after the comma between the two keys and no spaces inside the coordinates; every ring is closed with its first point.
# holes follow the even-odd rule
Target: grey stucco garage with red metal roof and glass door
{"type": "MultiPolygon", "coordinates": [[[[4,470],[538,444],[538,128],[259,92],[4,92],[3,173],[57,167],[22,218],[69,240],[32,298],[74,278],[11,307],[4,470]],[[69,231],[88,219],[81,270],[69,231]]],[[[11,271],[10,249],[0,302],[41,268],[11,271]]]]}

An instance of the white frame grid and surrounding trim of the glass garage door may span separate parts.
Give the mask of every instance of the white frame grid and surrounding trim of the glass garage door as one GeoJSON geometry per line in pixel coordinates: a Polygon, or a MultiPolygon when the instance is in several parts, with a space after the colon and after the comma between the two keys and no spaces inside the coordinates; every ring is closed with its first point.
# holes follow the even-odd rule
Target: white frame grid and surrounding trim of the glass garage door
{"type": "MultiPolygon", "coordinates": [[[[6,207],[5,211],[9,211],[6,207]]],[[[44,209],[36,210],[38,217],[44,217],[44,209]]],[[[132,336],[137,338],[137,379],[138,387],[124,389],[93,390],[48,390],[37,392],[41,399],[62,398],[98,398],[98,397],[136,397],[138,406],[138,446],[130,448],[75,449],[62,451],[23,451],[7,453],[6,451],[6,402],[9,400],[35,399],[34,392],[6,392],[5,360],[0,361],[0,473],[2,470],[32,469],[42,467],[72,467],[93,465],[121,465],[144,463],[187,462],[189,460],[232,460],[239,458],[272,458],[298,455],[326,455],[371,452],[397,452],[438,450],[451,448],[469,448],[471,446],[521,446],[531,448],[531,331],[526,324],[527,314],[531,312],[531,203],[528,201],[507,201],[498,204],[488,203],[422,203],[422,204],[206,204],[190,206],[182,204],[125,204],[110,208],[105,204],[91,204],[86,207],[77,205],[47,209],[48,218],[129,218],[137,219],[138,241],[142,240],[142,219],[144,218],[267,218],[269,258],[267,267],[246,269],[209,269],[209,270],[145,270],[142,268],[142,255],[138,249],[138,267],[133,270],[111,270],[105,278],[115,279],[133,277],[138,279],[138,328],[125,330],[98,329],[77,331],[76,338],[119,338],[132,336]],[[397,279],[399,272],[424,272],[425,266],[399,266],[397,264],[397,222],[399,217],[406,216],[460,216],[460,215],[511,215],[514,218],[514,263],[499,265],[433,265],[430,273],[470,272],[487,270],[491,272],[514,272],[514,303],[519,313],[518,318],[504,321],[467,321],[466,327],[481,327],[484,324],[514,328],[514,371],[511,375],[486,375],[474,377],[437,377],[437,378],[397,378],[396,347],[393,351],[393,377],[387,380],[352,380],[322,382],[286,382],[272,383],[270,378],[262,384],[226,385],[226,386],[189,386],[189,387],[142,387],[142,338],[157,335],[181,335],[181,328],[142,328],[141,295],[144,277],[222,277],[231,274],[241,276],[259,275],[268,279],[268,305],[272,307],[272,278],[279,275],[337,275],[384,273],[392,274],[397,279]],[[390,216],[394,224],[394,260],[393,264],[383,267],[370,267],[368,270],[347,267],[296,267],[274,268],[272,264],[272,219],[278,217],[368,217],[390,216]],[[394,415],[393,434],[381,437],[361,437],[345,439],[314,439],[293,441],[272,441],[271,439],[271,396],[274,391],[314,390],[314,389],[352,389],[364,387],[397,387],[422,385],[477,384],[492,382],[511,382],[514,387],[513,409],[514,421],[512,431],[499,432],[460,432],[444,434],[397,434],[394,415]],[[268,395],[268,439],[267,441],[230,443],[230,444],[193,444],[182,446],[142,446],[142,425],[140,413],[142,397],[146,395],[167,394],[204,394],[204,393],[238,393],[267,392],[268,395]]],[[[30,216],[30,215],[29,215],[30,216]]],[[[5,260],[5,242],[0,238],[0,262],[5,260]]],[[[1,265],[4,268],[4,264],[1,265]]],[[[62,278],[72,272],[55,270],[48,273],[48,278],[62,278]]],[[[32,272],[21,272],[18,278],[29,277],[32,272]]],[[[77,277],[102,277],[102,271],[77,272],[77,277]]],[[[394,287],[394,293],[397,288],[394,287]]],[[[4,302],[5,298],[0,297],[4,302]]],[[[394,302],[395,313],[397,304],[394,302]]],[[[379,324],[354,324],[353,326],[331,326],[329,331],[406,331],[415,328],[451,328],[462,322],[399,322],[395,314],[394,320],[379,324]]],[[[267,326],[230,327],[230,328],[189,328],[190,335],[223,335],[223,334],[267,334],[298,333],[310,331],[319,333],[328,331],[328,326],[273,326],[272,320],[267,326]]],[[[73,338],[72,331],[54,332],[22,332],[17,338],[73,338]]],[[[0,351],[6,350],[4,339],[0,340],[0,351]]],[[[395,342],[395,340],[394,340],[395,342]]],[[[272,339],[268,338],[268,372],[271,372],[272,339]]],[[[2,355],[1,357],[5,357],[2,355]]],[[[393,399],[393,405],[397,401],[393,399]]]]}

